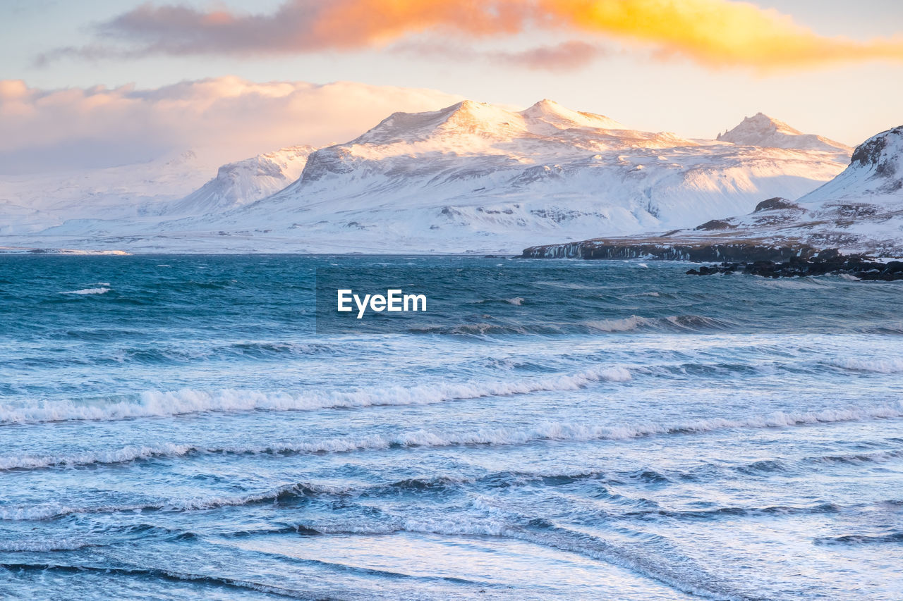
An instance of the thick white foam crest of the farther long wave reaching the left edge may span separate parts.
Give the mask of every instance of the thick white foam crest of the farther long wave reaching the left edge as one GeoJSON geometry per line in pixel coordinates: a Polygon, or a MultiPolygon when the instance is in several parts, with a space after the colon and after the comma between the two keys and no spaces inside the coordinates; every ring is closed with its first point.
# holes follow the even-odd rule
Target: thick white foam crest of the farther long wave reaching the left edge
{"type": "Polygon", "coordinates": [[[313,411],[380,405],[420,405],[435,402],[508,396],[542,391],[577,390],[593,382],[626,382],[630,372],[621,366],[597,366],[576,374],[557,374],[517,382],[436,383],[390,386],[358,391],[260,392],[227,389],[210,393],[184,389],[141,393],[135,401],[83,403],[33,402],[0,408],[2,422],[125,420],[206,411],[313,411]]]}

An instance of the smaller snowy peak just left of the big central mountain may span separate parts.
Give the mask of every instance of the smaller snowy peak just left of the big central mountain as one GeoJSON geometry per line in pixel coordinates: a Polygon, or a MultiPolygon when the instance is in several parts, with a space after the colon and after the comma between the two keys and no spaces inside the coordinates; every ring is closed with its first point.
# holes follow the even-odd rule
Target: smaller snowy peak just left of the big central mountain
{"type": "Polygon", "coordinates": [[[167,215],[204,215],[263,199],[297,180],[316,148],[289,146],[219,168],[217,177],[166,209],[167,215]]]}

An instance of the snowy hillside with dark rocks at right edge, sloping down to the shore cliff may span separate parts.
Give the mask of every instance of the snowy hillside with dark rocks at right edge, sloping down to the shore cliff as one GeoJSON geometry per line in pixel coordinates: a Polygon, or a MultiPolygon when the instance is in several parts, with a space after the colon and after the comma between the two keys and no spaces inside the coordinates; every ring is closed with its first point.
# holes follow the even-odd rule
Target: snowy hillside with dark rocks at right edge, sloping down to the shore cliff
{"type": "MultiPolygon", "coordinates": [[[[541,247],[535,256],[584,256],[588,249],[707,254],[706,248],[786,247],[903,256],[903,126],[874,135],[840,175],[796,201],[771,198],[747,215],[712,219],[662,235],[597,238],[541,247]]],[[[731,251],[732,252],[732,251],[731,251]]]]}

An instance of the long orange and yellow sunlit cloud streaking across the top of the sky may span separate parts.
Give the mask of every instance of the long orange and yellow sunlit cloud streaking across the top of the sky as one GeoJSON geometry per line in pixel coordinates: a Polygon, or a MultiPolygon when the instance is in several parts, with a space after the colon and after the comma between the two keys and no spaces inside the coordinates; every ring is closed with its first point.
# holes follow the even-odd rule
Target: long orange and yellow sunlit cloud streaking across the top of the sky
{"type": "MultiPolygon", "coordinates": [[[[786,14],[731,0],[285,0],[272,14],[147,3],[101,23],[100,46],[58,49],[38,61],[65,54],[97,58],[104,52],[247,57],[354,51],[424,33],[434,39],[481,40],[535,30],[645,45],[657,56],[679,56],[712,67],[773,69],[903,61],[899,36],[866,42],[823,36],[786,14]],[[116,43],[125,44],[125,50],[116,43]]],[[[534,54],[535,60],[527,60],[526,66],[553,56],[547,51],[544,55],[544,49],[535,49],[534,54]]],[[[573,59],[586,56],[585,49],[575,51],[573,59]]]]}

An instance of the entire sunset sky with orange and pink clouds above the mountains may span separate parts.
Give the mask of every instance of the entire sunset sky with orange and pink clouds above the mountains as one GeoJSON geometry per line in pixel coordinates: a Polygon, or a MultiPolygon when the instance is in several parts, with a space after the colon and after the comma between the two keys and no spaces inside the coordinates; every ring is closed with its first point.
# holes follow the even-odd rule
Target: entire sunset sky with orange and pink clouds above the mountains
{"type": "Polygon", "coordinates": [[[4,173],[238,160],[464,97],[685,137],[903,124],[898,0],[0,0],[0,56],[4,173]]]}

